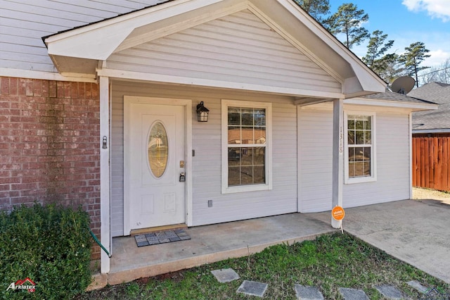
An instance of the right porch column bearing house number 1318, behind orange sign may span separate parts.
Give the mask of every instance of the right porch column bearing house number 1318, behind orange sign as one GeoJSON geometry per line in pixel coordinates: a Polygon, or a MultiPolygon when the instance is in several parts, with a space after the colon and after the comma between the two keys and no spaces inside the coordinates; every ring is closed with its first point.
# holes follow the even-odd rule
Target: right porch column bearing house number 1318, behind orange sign
{"type": "MultiPolygon", "coordinates": [[[[344,184],[344,100],[333,100],[333,190],[332,208],[342,206],[344,184]]],[[[331,226],[339,228],[339,221],[331,217],[331,226]]]]}

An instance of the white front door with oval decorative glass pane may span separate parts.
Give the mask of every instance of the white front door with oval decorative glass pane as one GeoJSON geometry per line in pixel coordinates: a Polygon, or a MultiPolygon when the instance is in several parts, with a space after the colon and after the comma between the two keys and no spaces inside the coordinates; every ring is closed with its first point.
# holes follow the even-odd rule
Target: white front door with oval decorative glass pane
{"type": "Polygon", "coordinates": [[[186,222],[186,106],[130,103],[125,192],[130,230],[186,222]]]}

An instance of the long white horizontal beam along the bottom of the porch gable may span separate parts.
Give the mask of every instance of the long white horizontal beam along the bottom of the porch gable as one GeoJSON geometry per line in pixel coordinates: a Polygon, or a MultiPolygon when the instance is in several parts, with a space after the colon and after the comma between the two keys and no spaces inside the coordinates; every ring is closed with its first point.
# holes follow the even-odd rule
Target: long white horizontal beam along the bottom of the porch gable
{"type": "Polygon", "coordinates": [[[272,87],[266,85],[252,85],[242,82],[229,82],[221,80],[210,80],[203,78],[181,77],[172,75],[160,75],[151,73],[139,73],[124,70],[97,69],[98,76],[120,78],[127,80],[143,80],[151,82],[165,82],[176,85],[195,85],[202,87],[214,87],[219,89],[240,89],[244,91],[266,92],[272,94],[282,94],[288,96],[306,96],[316,98],[342,98],[342,94],[333,92],[319,92],[307,89],[292,89],[288,87],[272,87]]]}

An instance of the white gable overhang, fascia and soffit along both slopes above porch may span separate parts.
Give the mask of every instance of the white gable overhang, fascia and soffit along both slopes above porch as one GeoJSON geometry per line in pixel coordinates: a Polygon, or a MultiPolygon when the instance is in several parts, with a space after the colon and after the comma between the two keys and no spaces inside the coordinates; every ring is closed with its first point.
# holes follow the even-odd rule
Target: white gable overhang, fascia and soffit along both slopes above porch
{"type": "Polygon", "coordinates": [[[292,0],[172,0],[44,41],[60,73],[91,75],[112,54],[245,9],[341,82],[342,97],[384,90],[378,75],[292,0]]]}

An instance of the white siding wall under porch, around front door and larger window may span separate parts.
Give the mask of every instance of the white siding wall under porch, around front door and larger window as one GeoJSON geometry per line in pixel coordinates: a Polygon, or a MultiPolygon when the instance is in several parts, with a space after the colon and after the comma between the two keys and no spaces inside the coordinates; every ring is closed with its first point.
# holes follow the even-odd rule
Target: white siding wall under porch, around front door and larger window
{"type": "Polygon", "coordinates": [[[193,101],[193,225],[223,223],[297,211],[296,107],[287,96],[113,81],[111,132],[111,227],[123,235],[123,96],[193,101]],[[270,191],[221,194],[221,99],[272,103],[273,187],[270,191]],[[210,109],[207,123],[196,120],[195,106],[210,109]],[[207,201],[212,200],[212,207],[207,201]]]}

